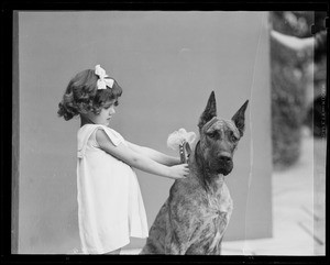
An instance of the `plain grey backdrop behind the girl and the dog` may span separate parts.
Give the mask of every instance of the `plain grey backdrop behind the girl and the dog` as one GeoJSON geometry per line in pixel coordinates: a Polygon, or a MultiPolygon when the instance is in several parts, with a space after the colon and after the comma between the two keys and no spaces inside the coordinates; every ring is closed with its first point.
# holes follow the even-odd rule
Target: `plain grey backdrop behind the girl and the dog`
{"type": "MultiPolygon", "coordinates": [[[[56,112],[69,79],[96,64],[123,88],[111,126],[170,155],[177,154],[167,148],[167,135],[179,128],[198,133],[212,90],[226,119],[250,99],[227,178],[234,210],[224,240],[272,236],[266,12],[19,12],[19,253],[80,250],[79,120],[56,112]]],[[[151,227],[173,180],[136,174],[151,227]]]]}

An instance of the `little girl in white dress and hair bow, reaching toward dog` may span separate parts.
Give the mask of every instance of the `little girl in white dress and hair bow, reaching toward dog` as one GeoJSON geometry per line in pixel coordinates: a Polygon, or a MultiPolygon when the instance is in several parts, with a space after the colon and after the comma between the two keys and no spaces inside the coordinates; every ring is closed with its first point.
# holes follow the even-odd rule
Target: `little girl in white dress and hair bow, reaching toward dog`
{"type": "Polygon", "coordinates": [[[109,128],[122,89],[97,65],[77,74],[58,104],[58,115],[80,115],[77,188],[82,252],[119,254],[130,236],[147,238],[145,209],[132,167],[150,174],[185,178],[188,165],[124,140],[109,128]]]}

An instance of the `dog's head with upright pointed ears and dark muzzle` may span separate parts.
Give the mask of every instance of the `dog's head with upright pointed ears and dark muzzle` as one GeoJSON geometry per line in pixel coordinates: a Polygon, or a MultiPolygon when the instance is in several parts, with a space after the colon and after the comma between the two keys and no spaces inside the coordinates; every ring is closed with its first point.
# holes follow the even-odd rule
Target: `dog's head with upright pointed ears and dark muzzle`
{"type": "Polygon", "coordinates": [[[233,153],[244,133],[244,113],[249,100],[237,111],[231,120],[217,117],[216,96],[212,91],[202,112],[198,128],[199,150],[204,163],[211,173],[228,175],[233,168],[233,153]]]}

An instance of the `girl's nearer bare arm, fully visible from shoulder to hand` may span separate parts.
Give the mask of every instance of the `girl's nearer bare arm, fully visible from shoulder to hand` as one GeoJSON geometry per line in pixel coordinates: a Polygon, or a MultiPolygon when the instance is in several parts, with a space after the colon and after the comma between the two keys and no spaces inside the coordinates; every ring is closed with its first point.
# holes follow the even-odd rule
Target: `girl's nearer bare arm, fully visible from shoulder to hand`
{"type": "Polygon", "coordinates": [[[168,167],[136,153],[122,143],[114,146],[103,130],[97,130],[96,140],[103,151],[140,170],[174,179],[185,178],[189,174],[187,164],[168,167]]]}

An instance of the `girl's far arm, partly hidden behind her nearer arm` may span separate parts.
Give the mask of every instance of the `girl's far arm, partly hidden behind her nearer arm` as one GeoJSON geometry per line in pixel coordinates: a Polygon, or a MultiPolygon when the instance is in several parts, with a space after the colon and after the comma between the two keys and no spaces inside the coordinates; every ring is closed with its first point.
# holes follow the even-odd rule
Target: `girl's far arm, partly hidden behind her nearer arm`
{"type": "Polygon", "coordinates": [[[151,159],[153,159],[157,163],[161,163],[163,165],[174,166],[174,165],[179,165],[182,163],[179,157],[165,155],[165,154],[163,154],[158,151],[155,151],[153,148],[145,147],[145,146],[140,146],[138,144],[133,144],[133,143],[130,143],[128,141],[127,141],[127,143],[129,144],[129,147],[131,150],[133,150],[134,152],[136,152],[139,154],[142,154],[142,155],[145,155],[148,158],[151,158],[151,159]]]}

